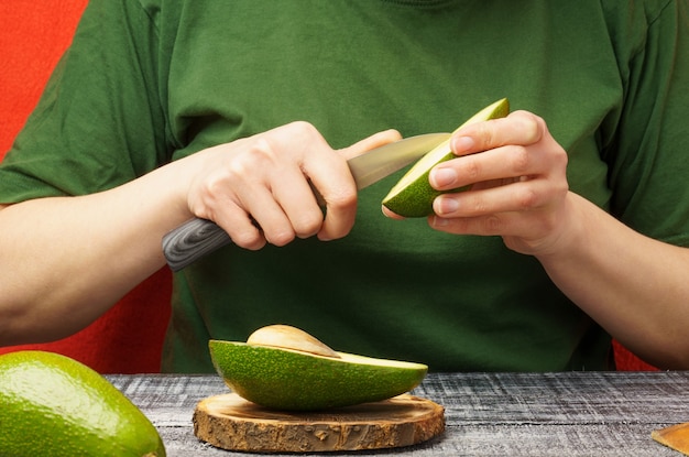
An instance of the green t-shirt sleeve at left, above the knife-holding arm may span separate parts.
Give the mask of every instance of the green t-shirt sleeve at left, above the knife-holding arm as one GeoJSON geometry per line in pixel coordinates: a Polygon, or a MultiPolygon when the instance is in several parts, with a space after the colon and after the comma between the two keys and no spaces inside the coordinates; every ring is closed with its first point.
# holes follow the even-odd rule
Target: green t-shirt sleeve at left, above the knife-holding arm
{"type": "Polygon", "coordinates": [[[154,17],[92,0],[0,164],[0,203],[105,191],[167,156],[154,17]]]}

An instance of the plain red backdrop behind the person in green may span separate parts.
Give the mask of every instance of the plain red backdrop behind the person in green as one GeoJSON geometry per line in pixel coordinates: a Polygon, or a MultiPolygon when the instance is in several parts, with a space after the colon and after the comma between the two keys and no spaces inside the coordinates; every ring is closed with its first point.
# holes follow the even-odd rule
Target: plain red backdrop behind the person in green
{"type": "MultiPolygon", "coordinates": [[[[0,2],[0,160],[35,106],[68,46],[88,0],[0,2]]],[[[169,318],[171,273],[164,268],[88,328],[59,341],[0,348],[43,349],[75,358],[102,373],[160,371],[169,318]]],[[[654,370],[614,344],[620,370],[654,370]]]]}

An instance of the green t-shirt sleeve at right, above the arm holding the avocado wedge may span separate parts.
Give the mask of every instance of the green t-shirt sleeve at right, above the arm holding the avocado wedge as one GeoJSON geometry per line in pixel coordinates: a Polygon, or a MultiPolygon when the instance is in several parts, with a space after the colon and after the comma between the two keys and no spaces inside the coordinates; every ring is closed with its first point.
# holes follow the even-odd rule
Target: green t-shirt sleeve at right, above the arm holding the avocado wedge
{"type": "Polygon", "coordinates": [[[679,246],[689,246],[687,4],[668,1],[658,11],[639,9],[644,23],[627,22],[646,33],[620,64],[626,79],[624,108],[605,152],[612,213],[647,236],[679,246]]]}

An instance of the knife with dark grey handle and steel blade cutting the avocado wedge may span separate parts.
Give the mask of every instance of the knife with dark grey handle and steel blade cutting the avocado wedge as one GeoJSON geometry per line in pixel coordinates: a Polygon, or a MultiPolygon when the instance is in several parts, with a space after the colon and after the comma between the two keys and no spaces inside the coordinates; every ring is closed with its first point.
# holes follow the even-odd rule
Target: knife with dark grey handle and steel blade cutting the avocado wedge
{"type": "MultiPolygon", "coordinates": [[[[347,164],[357,183],[357,189],[370,186],[403,168],[448,138],[450,133],[409,137],[350,159],[347,164]]],[[[163,253],[172,271],[179,271],[230,242],[227,232],[215,222],[195,218],[163,237],[163,253]]]]}

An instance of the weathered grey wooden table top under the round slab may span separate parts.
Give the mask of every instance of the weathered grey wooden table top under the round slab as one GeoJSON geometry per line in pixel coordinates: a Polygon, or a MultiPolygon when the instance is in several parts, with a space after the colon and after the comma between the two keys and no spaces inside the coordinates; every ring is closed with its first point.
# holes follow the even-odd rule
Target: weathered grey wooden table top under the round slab
{"type": "MultiPolygon", "coordinates": [[[[107,378],[155,424],[168,456],[255,456],[194,436],[196,403],[228,391],[219,377],[107,378]]],[[[413,393],[446,407],[444,435],[411,448],[337,456],[678,457],[650,432],[689,422],[689,372],[431,373],[413,393]]]]}

